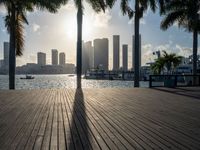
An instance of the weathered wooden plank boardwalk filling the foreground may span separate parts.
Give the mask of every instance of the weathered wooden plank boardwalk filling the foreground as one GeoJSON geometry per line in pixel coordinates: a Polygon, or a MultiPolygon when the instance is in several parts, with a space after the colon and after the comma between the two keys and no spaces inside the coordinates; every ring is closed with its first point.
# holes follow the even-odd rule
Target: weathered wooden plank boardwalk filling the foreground
{"type": "Polygon", "coordinates": [[[0,91],[0,149],[199,150],[200,88],[0,91]]]}

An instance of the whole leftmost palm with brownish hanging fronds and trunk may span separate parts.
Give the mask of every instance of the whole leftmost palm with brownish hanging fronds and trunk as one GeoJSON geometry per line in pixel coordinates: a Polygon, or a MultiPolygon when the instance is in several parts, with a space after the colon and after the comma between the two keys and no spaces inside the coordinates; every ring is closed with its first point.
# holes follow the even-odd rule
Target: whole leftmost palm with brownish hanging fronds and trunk
{"type": "Polygon", "coordinates": [[[9,89],[15,89],[16,56],[21,56],[24,49],[24,23],[28,24],[26,12],[32,12],[34,7],[56,12],[64,0],[0,0],[0,5],[7,9],[5,26],[10,34],[9,45],[9,89]]]}

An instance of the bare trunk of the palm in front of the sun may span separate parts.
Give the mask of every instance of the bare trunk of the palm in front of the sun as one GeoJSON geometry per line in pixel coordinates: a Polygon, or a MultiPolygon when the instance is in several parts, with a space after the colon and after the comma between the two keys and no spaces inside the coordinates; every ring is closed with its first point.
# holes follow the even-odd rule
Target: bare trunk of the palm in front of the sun
{"type": "Polygon", "coordinates": [[[77,12],[77,88],[81,88],[81,74],[82,74],[82,22],[83,22],[83,11],[82,4],[78,8],[77,12]]]}

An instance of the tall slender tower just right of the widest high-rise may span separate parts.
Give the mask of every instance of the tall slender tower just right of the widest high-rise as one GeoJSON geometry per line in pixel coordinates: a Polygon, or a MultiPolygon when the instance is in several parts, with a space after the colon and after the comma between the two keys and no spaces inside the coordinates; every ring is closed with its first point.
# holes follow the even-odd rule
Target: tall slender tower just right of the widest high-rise
{"type": "Polygon", "coordinates": [[[113,70],[119,70],[119,49],[120,37],[119,35],[113,36],[113,70]]]}

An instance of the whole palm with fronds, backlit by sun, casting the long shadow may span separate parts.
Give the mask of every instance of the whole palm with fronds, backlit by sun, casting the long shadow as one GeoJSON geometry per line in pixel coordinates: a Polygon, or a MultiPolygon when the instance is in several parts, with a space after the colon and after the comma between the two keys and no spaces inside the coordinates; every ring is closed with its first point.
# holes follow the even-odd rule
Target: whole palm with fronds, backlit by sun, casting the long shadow
{"type": "MultiPolygon", "coordinates": [[[[77,7],[77,88],[81,88],[81,74],[82,74],[82,23],[83,23],[83,0],[75,0],[75,5],[77,7]]],[[[106,6],[112,6],[113,2],[107,0],[87,0],[87,2],[92,6],[96,12],[101,10],[105,11],[106,6]]]]}

